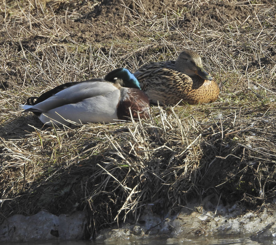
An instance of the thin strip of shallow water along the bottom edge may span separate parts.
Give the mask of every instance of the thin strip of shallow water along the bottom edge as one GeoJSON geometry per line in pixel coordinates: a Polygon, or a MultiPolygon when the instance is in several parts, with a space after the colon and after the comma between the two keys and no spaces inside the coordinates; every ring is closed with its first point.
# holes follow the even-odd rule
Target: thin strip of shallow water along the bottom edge
{"type": "Polygon", "coordinates": [[[140,240],[110,240],[110,241],[80,241],[80,240],[70,240],[70,241],[34,241],[34,242],[24,242],[24,243],[1,243],[3,245],[217,245],[217,244],[234,244],[234,245],[268,245],[276,244],[276,240],[265,240],[265,241],[252,241],[249,238],[237,238],[237,237],[202,237],[196,240],[181,240],[178,238],[148,238],[140,240]]]}

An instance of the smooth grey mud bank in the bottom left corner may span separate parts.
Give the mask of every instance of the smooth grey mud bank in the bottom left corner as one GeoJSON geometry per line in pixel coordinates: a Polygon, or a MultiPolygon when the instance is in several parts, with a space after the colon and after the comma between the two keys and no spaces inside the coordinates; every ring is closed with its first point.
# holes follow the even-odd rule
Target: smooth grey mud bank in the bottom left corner
{"type": "Polygon", "coordinates": [[[0,225],[1,242],[25,242],[51,239],[83,239],[86,225],[84,212],[72,215],[40,211],[32,216],[15,214],[0,225]]]}

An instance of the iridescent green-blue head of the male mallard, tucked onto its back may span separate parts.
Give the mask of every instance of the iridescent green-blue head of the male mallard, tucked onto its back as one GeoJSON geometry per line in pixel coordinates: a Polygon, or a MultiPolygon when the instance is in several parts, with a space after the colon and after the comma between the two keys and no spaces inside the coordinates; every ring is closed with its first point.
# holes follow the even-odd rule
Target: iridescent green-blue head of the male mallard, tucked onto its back
{"type": "Polygon", "coordinates": [[[126,68],[118,68],[109,73],[104,78],[106,81],[115,83],[120,80],[119,83],[122,87],[132,87],[141,89],[136,77],[126,68]]]}

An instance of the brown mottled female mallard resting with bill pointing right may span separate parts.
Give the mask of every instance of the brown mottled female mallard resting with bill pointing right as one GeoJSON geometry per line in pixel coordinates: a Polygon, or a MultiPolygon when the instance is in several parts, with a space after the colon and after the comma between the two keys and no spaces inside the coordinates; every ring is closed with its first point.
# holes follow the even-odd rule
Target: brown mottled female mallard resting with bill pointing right
{"type": "Polygon", "coordinates": [[[213,102],[218,98],[218,84],[204,71],[199,54],[181,52],[176,61],[143,65],[134,76],[153,104],[189,104],[213,102]]]}

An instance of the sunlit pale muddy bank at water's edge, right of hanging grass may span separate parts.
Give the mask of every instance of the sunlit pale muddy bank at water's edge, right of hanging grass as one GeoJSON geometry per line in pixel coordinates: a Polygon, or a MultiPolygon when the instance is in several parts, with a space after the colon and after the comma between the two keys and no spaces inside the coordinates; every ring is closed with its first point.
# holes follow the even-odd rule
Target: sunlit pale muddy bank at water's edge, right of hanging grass
{"type": "Polygon", "coordinates": [[[252,240],[276,240],[275,220],[275,204],[246,211],[238,203],[214,206],[212,200],[207,199],[204,205],[189,204],[174,216],[153,214],[151,205],[148,205],[136,224],[125,223],[120,228],[104,229],[96,239],[119,241],[133,237],[165,236],[170,241],[185,241],[202,236],[239,235],[252,240]]]}

